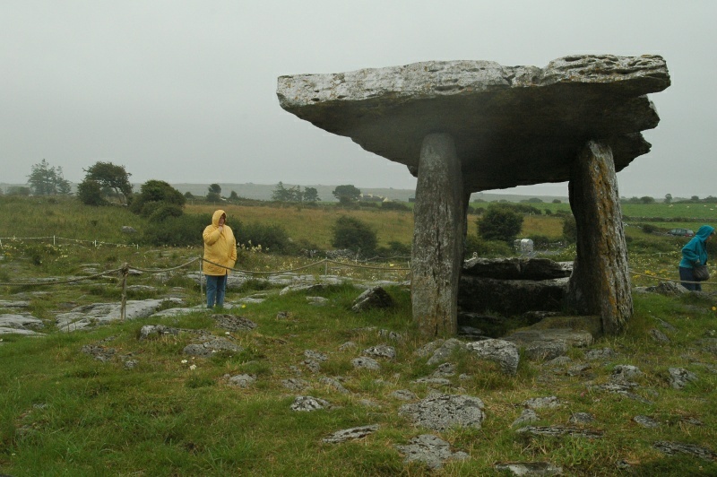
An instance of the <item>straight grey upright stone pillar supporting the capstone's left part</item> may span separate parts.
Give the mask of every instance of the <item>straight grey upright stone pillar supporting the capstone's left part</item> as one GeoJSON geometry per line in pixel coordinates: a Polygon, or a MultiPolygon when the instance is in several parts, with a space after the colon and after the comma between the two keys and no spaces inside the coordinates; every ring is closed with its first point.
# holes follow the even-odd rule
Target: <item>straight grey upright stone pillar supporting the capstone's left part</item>
{"type": "Polygon", "coordinates": [[[466,207],[461,161],[449,134],[428,134],[421,146],[411,260],[413,320],[423,334],[457,331],[466,207]]]}

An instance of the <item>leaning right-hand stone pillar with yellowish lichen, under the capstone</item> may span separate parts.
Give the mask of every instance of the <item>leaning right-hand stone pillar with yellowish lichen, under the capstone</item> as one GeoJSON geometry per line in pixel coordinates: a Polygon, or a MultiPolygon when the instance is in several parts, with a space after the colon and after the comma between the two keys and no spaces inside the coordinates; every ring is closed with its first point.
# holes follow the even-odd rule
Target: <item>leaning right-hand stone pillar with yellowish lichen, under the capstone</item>
{"type": "Polygon", "coordinates": [[[570,207],[577,229],[577,256],[568,302],[600,315],[606,334],[618,334],[633,313],[618,178],[610,147],[588,142],[570,170],[570,207]]]}

